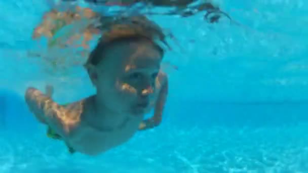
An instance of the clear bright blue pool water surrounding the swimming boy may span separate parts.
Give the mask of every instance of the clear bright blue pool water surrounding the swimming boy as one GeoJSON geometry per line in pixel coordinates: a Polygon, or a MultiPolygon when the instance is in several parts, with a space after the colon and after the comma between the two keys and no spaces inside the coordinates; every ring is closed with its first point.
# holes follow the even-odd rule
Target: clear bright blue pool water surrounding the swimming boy
{"type": "Polygon", "coordinates": [[[100,156],[70,155],[28,111],[27,86],[55,86],[55,100],[93,93],[85,71],[50,73],[33,27],[44,1],[0,1],[0,172],[307,172],[308,3],[222,1],[242,26],[151,17],[170,29],[170,95],[162,124],[100,156]],[[73,88],[73,90],[71,90],[73,88]]]}

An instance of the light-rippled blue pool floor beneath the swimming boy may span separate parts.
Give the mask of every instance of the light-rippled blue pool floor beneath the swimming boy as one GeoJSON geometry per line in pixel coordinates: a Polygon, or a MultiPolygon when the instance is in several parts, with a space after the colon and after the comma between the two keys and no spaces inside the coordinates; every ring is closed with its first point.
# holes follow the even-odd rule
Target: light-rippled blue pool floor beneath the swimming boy
{"type": "Polygon", "coordinates": [[[307,124],[158,128],[96,157],[70,155],[43,127],[2,132],[0,172],[305,172],[307,132],[307,124]]]}

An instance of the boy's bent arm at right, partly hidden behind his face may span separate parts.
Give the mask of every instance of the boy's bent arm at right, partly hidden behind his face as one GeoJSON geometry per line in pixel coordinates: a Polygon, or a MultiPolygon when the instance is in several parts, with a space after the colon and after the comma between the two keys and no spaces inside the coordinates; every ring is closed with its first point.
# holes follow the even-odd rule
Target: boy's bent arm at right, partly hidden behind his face
{"type": "Polygon", "coordinates": [[[162,85],[162,89],[160,91],[160,94],[159,94],[159,97],[158,97],[158,100],[155,106],[154,115],[149,119],[143,120],[139,125],[139,130],[153,128],[153,127],[158,126],[161,123],[164,106],[166,104],[167,95],[168,95],[168,79],[167,79],[167,76],[165,76],[164,83],[162,85]]]}

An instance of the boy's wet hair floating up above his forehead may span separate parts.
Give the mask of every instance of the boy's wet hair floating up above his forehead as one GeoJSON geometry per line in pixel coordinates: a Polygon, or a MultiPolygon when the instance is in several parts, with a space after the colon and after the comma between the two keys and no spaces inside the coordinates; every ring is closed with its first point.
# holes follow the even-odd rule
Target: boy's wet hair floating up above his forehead
{"type": "Polygon", "coordinates": [[[102,35],[94,50],[90,53],[85,64],[97,65],[102,60],[104,52],[115,43],[122,41],[149,40],[153,46],[164,56],[164,47],[170,48],[166,42],[163,29],[145,16],[133,17],[102,17],[100,30],[102,35]]]}

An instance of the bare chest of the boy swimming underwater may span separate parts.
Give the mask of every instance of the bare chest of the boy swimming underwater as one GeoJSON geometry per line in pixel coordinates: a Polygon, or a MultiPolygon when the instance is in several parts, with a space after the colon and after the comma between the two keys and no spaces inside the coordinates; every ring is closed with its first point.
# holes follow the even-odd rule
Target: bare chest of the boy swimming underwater
{"type": "MultiPolygon", "coordinates": [[[[78,106],[75,105],[83,106],[83,104],[76,102],[66,107],[73,109],[70,111],[72,114],[83,112],[80,111],[83,108],[77,108],[78,106]]],[[[117,128],[96,127],[87,120],[91,113],[87,110],[80,115],[73,115],[74,118],[80,116],[80,121],[68,126],[67,137],[63,138],[71,148],[88,155],[96,155],[127,142],[138,131],[138,126],[142,120],[142,118],[128,117],[117,128]]]]}

